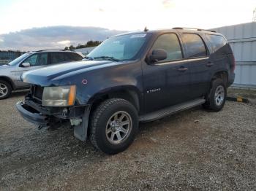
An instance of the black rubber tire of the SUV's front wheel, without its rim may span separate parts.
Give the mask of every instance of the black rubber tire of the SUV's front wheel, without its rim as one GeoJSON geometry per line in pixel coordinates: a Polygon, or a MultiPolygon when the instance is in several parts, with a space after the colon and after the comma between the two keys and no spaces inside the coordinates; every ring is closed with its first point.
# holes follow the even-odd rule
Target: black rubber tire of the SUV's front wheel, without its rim
{"type": "MultiPolygon", "coordinates": [[[[96,109],[94,109],[94,112],[91,114],[91,143],[94,145],[94,147],[107,154],[113,155],[127,149],[129,145],[132,144],[132,141],[135,139],[137,132],[138,112],[135,109],[135,106],[133,106],[129,103],[129,101],[126,101],[124,99],[110,98],[106,101],[103,101],[101,104],[99,104],[99,106],[97,106],[96,109]],[[110,118],[113,117],[113,114],[116,114],[118,112],[125,112],[126,114],[128,114],[127,116],[129,116],[129,133],[124,136],[125,139],[123,141],[118,144],[113,144],[108,137],[109,134],[106,133],[107,128],[109,127],[109,125],[107,126],[107,124],[108,122],[112,122],[110,118]]],[[[112,135],[113,131],[111,130],[110,133],[110,135],[112,135]]],[[[116,139],[118,139],[117,136],[116,139]]]]}

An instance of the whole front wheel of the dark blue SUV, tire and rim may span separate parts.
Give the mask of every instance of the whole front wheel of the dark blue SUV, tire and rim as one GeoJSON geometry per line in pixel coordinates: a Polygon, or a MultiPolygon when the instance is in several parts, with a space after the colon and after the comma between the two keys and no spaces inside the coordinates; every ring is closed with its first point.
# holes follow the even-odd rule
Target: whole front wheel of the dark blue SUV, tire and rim
{"type": "Polygon", "coordinates": [[[137,132],[138,112],[135,106],[124,99],[103,101],[91,114],[91,143],[109,155],[127,149],[137,132]]]}

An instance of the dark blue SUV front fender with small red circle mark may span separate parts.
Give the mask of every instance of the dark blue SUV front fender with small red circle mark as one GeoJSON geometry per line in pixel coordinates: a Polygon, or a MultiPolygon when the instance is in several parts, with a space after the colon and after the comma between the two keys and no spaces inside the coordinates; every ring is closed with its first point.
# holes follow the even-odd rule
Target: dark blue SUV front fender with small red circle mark
{"type": "Polygon", "coordinates": [[[97,95],[103,95],[115,90],[135,90],[143,93],[142,70],[140,61],[121,63],[120,65],[87,71],[69,77],[68,82],[61,80],[63,85],[76,85],[76,104],[91,104],[97,95]]]}

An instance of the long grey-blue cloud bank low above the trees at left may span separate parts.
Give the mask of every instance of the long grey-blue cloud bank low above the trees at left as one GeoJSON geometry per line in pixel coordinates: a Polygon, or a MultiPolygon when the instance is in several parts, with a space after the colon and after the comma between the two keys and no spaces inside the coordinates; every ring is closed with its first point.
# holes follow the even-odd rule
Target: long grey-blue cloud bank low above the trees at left
{"type": "Polygon", "coordinates": [[[89,40],[103,41],[124,31],[99,27],[49,26],[30,28],[0,35],[0,50],[63,49],[69,44],[85,44],[89,40]]]}

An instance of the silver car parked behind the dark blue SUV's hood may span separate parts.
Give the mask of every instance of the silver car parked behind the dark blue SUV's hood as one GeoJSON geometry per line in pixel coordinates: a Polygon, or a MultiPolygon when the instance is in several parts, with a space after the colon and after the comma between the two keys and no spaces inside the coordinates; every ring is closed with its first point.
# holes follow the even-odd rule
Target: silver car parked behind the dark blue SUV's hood
{"type": "Polygon", "coordinates": [[[25,71],[39,69],[54,63],[81,61],[83,55],[69,50],[39,50],[28,52],[6,65],[0,65],[0,99],[8,98],[12,90],[29,88],[21,81],[25,71]]]}

